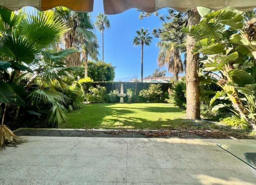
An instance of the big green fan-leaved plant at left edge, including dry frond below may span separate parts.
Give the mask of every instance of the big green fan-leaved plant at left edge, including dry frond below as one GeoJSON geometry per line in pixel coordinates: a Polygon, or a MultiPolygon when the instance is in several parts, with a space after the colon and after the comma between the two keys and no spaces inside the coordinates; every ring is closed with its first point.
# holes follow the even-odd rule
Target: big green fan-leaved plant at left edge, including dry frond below
{"type": "Polygon", "coordinates": [[[18,115],[19,107],[27,104],[27,92],[20,86],[24,85],[25,75],[33,73],[30,67],[35,68],[43,59],[43,51],[56,47],[66,31],[50,12],[26,14],[22,10],[14,13],[0,9],[0,104],[4,104],[0,148],[19,143],[3,125],[8,105],[18,106],[18,115]]]}

